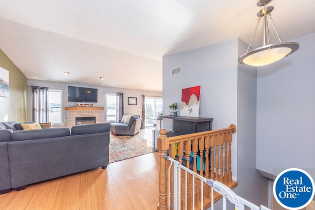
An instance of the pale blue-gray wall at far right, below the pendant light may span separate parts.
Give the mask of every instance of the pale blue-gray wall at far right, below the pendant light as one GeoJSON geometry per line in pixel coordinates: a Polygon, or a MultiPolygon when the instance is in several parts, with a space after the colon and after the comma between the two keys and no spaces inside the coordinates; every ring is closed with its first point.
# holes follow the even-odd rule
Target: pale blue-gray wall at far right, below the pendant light
{"type": "Polygon", "coordinates": [[[315,33],[294,41],[298,51],[258,68],[256,163],[270,178],[297,167],[315,180],[315,33]]]}

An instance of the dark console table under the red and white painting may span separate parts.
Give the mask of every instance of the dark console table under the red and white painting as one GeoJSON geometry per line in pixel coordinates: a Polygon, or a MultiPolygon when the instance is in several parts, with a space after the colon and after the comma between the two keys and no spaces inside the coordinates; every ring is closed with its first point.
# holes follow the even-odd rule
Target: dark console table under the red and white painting
{"type": "Polygon", "coordinates": [[[213,118],[196,118],[186,116],[159,116],[161,120],[172,119],[173,131],[167,132],[167,136],[179,136],[189,133],[197,133],[212,129],[213,118]]]}

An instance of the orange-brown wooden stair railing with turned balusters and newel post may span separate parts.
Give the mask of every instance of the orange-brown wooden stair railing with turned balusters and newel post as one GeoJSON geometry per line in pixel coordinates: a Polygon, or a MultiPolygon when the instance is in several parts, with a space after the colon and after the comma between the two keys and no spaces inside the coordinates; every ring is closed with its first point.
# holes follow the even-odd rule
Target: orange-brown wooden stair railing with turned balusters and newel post
{"type": "MultiPolygon", "coordinates": [[[[232,180],[231,172],[231,142],[232,133],[236,132],[236,126],[231,124],[228,128],[218,130],[204,131],[199,133],[191,133],[186,135],[167,137],[166,130],[160,129],[158,137],[159,150],[159,203],[158,210],[168,209],[168,201],[170,201],[170,209],[173,210],[173,191],[170,188],[168,193],[168,176],[170,176],[170,184],[172,186],[173,170],[168,174],[170,162],[164,158],[164,154],[173,159],[178,159],[181,164],[186,164],[188,168],[195,173],[200,174],[206,179],[218,180],[231,189],[237,186],[237,182],[232,180]],[[184,157],[184,158],[183,158],[184,157]],[[192,161],[190,159],[193,159],[192,161]],[[200,159],[197,163],[197,158],[200,159]],[[184,159],[184,162],[183,162],[184,159]],[[192,166],[189,164],[192,162],[192,166]],[[210,161],[209,161],[210,160],[210,161]],[[186,162],[186,163],[185,163],[186,162]],[[210,163],[209,163],[210,162],[210,163]],[[199,169],[199,170],[198,170],[199,169]],[[168,198],[168,194],[170,197],[168,198]]],[[[181,179],[185,179],[184,176],[181,179]]],[[[187,209],[192,209],[192,193],[195,193],[195,209],[200,209],[201,191],[200,182],[197,180],[192,183],[192,178],[187,179],[187,209]],[[192,187],[194,185],[194,188],[192,187]]],[[[184,181],[182,183],[185,183],[184,181]]],[[[185,190],[185,186],[182,187],[185,190]]],[[[185,205],[185,192],[181,193],[181,207],[185,205]],[[184,204],[184,205],[183,205],[184,204]]],[[[211,189],[204,186],[204,208],[210,207],[211,189]]],[[[221,196],[219,193],[214,194],[214,202],[218,201],[221,196]]]]}

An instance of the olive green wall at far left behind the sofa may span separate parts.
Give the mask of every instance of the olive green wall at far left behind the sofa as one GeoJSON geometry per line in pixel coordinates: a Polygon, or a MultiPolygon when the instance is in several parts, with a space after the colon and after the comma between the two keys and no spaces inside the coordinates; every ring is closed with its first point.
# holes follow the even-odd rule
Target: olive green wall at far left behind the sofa
{"type": "Polygon", "coordinates": [[[0,97],[0,121],[27,121],[27,78],[1,49],[0,66],[9,71],[9,97],[0,97]]]}

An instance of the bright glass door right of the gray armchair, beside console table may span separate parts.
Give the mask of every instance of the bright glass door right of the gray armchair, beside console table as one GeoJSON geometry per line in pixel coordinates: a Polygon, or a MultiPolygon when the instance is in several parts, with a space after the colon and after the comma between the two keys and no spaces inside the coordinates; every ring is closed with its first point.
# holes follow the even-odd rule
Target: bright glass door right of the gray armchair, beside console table
{"type": "Polygon", "coordinates": [[[146,114],[146,127],[154,126],[155,120],[157,119],[161,111],[163,110],[163,99],[160,97],[145,97],[145,114],[146,114]],[[151,119],[147,119],[151,118],[151,119]]]}

